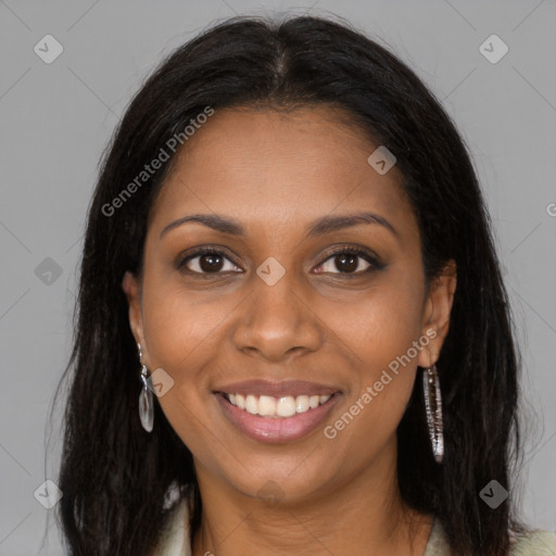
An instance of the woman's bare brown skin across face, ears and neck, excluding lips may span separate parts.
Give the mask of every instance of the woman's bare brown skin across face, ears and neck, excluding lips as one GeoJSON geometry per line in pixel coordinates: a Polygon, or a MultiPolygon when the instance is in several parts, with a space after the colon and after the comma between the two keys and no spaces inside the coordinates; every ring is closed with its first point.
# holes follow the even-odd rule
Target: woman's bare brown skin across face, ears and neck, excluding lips
{"type": "Polygon", "coordinates": [[[175,381],[157,402],[193,454],[203,500],[194,556],[244,555],[253,546],[266,555],[425,551],[431,517],[401,500],[395,431],[417,366],[435,363],[447,333],[455,266],[446,264],[427,291],[401,175],[395,166],[384,175],[370,167],[378,144],[346,122],[330,106],[217,111],[184,146],[152,207],[143,276],[124,277],[143,362],[175,381]],[[386,218],[395,233],[358,224],[306,237],[323,216],[362,211],[386,218]],[[168,224],[197,213],[233,218],[245,235],[187,223],[161,238],[168,224]],[[194,274],[200,257],[177,268],[201,245],[229,257],[220,274],[194,274]],[[358,257],[345,270],[329,254],[340,245],[371,250],[384,266],[358,257]],[[274,286],[256,274],[269,256],[286,270],[274,286]],[[326,439],[324,427],[427,330],[435,333],[428,346],[326,439]],[[309,435],[264,444],[238,431],[212,393],[253,378],[309,380],[342,394],[309,435]],[[257,494],[268,481],[282,496],[274,504],[257,494]]]}

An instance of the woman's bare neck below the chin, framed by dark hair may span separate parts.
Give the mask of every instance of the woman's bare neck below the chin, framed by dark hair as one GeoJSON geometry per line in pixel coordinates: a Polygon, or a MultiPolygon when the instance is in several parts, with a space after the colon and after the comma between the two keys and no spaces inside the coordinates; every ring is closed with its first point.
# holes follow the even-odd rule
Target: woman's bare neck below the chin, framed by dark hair
{"type": "Polygon", "coordinates": [[[421,556],[432,519],[403,503],[393,455],[318,496],[275,504],[238,492],[195,463],[203,511],[192,554],[244,556],[256,546],[273,556],[421,556]]]}

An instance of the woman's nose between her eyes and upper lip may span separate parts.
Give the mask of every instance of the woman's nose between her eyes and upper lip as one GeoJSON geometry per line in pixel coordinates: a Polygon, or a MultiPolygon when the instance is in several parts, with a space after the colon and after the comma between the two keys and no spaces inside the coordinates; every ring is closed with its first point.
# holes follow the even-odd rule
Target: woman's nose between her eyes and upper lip
{"type": "Polygon", "coordinates": [[[248,355],[283,362],[288,357],[315,352],[324,340],[323,326],[309,306],[294,273],[286,271],[269,286],[253,276],[251,294],[244,301],[235,329],[236,348],[248,355]]]}

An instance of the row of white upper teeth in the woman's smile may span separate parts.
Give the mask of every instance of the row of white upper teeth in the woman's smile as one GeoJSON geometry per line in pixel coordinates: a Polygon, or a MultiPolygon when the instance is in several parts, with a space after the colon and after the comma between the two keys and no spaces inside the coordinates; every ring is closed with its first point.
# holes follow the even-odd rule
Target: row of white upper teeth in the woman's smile
{"type": "Polygon", "coordinates": [[[330,395],[286,395],[274,397],[271,395],[256,396],[253,394],[226,394],[231,405],[244,409],[252,415],[262,417],[292,417],[295,414],[315,409],[330,400],[330,395]]]}

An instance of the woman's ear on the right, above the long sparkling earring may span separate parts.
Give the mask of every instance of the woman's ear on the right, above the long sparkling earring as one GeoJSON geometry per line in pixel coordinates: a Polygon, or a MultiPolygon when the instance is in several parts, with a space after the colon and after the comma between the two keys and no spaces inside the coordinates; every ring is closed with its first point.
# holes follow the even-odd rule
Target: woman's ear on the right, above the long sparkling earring
{"type": "Polygon", "coordinates": [[[455,261],[450,260],[430,285],[430,291],[425,302],[421,329],[421,334],[430,338],[430,342],[426,350],[419,351],[417,364],[420,367],[431,367],[439,358],[450,329],[450,315],[457,283],[456,270],[455,261]]]}

